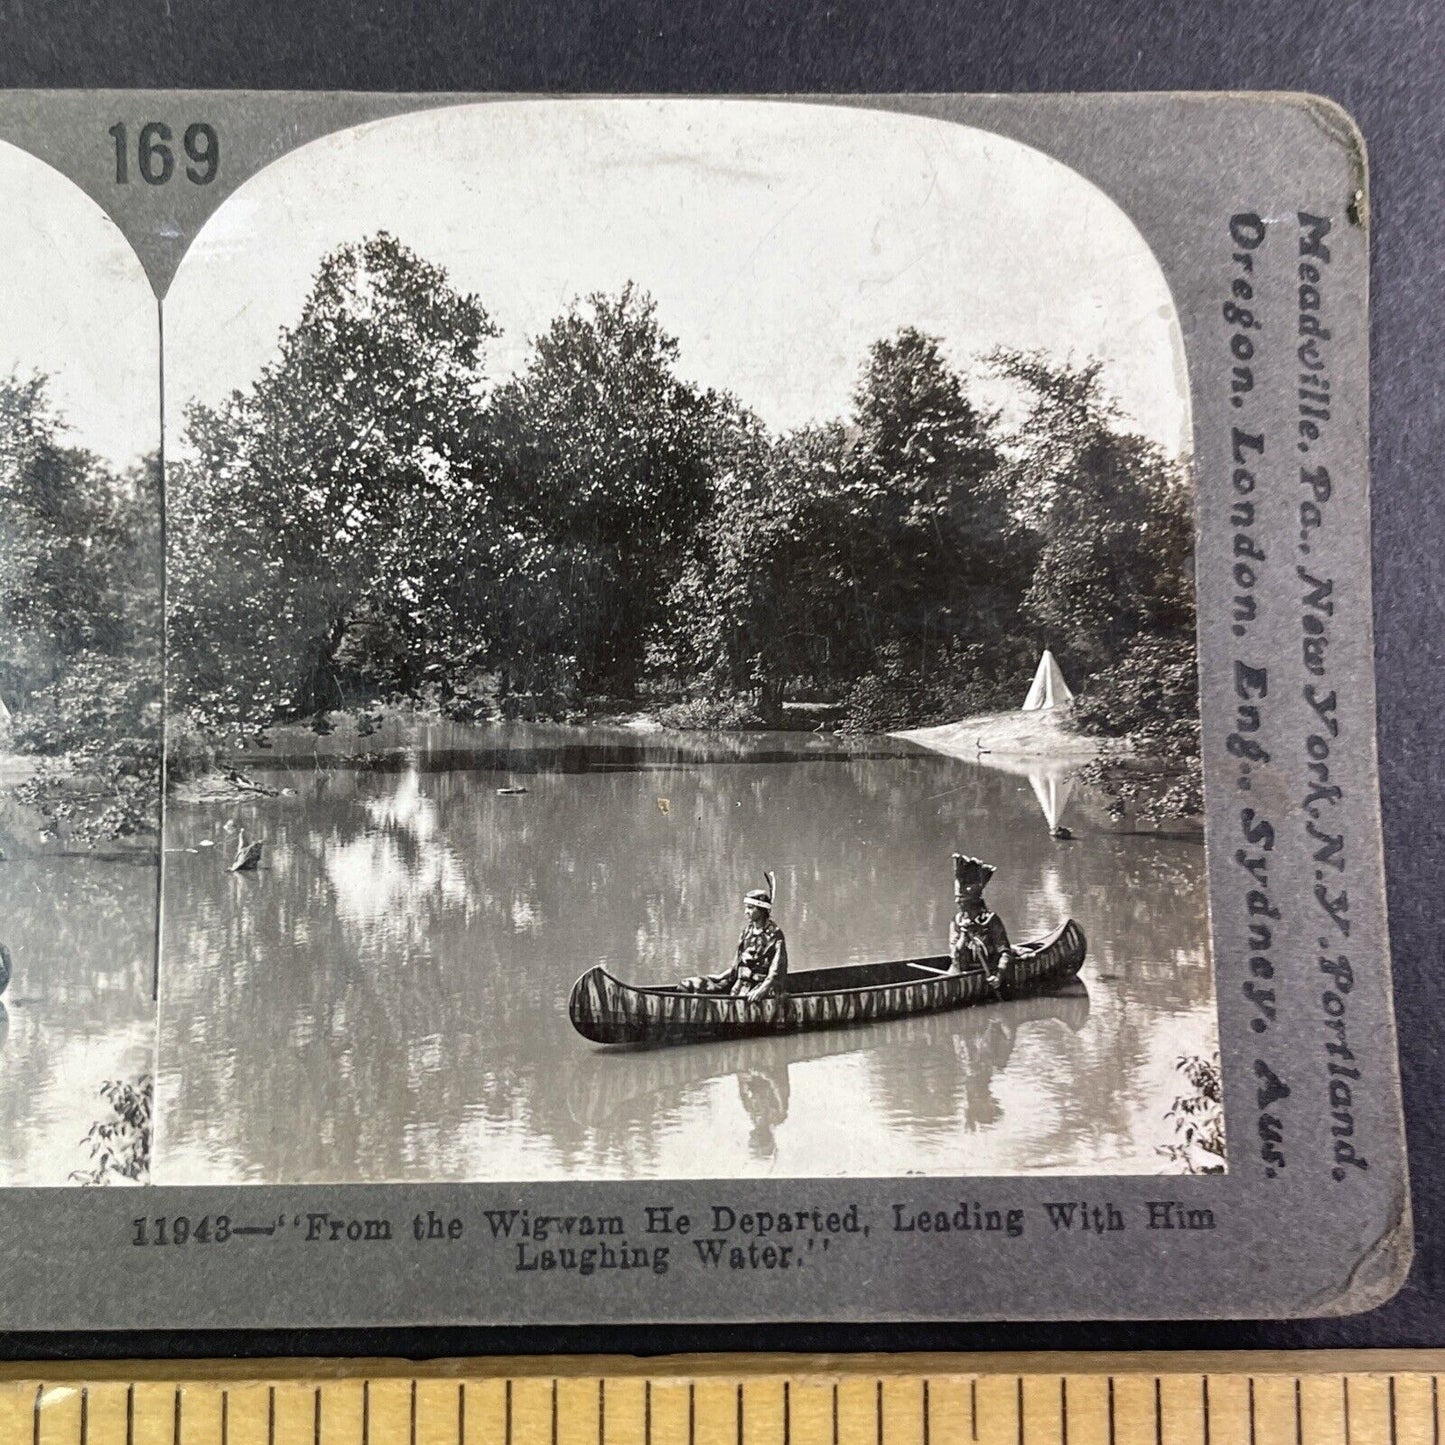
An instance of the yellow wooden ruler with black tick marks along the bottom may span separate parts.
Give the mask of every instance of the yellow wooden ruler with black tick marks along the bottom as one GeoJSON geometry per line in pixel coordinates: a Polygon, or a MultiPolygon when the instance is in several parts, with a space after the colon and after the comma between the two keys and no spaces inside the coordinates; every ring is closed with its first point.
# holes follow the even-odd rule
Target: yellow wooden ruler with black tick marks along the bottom
{"type": "Polygon", "coordinates": [[[0,1445],[1439,1445],[1445,1351],[0,1367],[0,1445]]]}

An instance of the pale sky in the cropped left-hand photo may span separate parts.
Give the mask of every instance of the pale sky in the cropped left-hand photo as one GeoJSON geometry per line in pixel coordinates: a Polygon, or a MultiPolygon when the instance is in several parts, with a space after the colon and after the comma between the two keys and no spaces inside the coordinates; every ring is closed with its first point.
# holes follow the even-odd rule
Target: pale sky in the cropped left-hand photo
{"type": "Polygon", "coordinates": [[[0,377],[43,371],[66,441],[127,467],[160,444],[156,298],[104,211],[0,142],[0,377]]]}

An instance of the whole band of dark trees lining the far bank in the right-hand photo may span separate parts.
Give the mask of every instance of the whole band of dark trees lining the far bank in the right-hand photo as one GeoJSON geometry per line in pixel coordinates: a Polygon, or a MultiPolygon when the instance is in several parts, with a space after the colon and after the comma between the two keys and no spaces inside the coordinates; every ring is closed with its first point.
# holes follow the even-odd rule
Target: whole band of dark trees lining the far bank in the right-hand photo
{"type": "Polygon", "coordinates": [[[776,434],[685,379],[634,286],[572,305],[501,383],[496,335],[379,234],[322,262],[249,389],[189,409],[169,623],[192,733],[399,699],[673,727],[806,701],[873,731],[1016,707],[1049,646],[1077,725],[1196,751],[1186,471],[1097,364],[987,358],[1025,403],[1006,423],[905,328],[845,415],[776,434]],[[1140,686],[1156,647],[1185,696],[1140,686]]]}

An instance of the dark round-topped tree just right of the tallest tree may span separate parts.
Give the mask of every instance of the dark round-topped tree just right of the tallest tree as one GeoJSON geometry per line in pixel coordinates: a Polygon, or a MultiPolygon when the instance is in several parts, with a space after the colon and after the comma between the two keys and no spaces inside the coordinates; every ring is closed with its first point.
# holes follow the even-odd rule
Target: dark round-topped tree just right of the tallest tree
{"type": "Polygon", "coordinates": [[[717,397],[634,286],[574,305],[503,386],[491,425],[526,529],[571,587],[578,675],[630,689],[709,496],[717,397]]]}

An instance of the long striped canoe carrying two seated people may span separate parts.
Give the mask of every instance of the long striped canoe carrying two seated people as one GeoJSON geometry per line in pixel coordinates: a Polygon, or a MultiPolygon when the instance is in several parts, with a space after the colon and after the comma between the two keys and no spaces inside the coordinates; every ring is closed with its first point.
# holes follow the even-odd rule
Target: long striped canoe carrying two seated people
{"type": "Polygon", "coordinates": [[[1048,938],[1016,945],[1010,977],[997,990],[983,974],[948,972],[945,954],[789,974],[782,998],[756,1004],[676,985],[627,984],[598,965],[572,984],[566,1007],[572,1027],[594,1043],[699,1043],[803,1033],[1046,993],[1078,974],[1084,951],[1084,929],[1069,919],[1048,938]]]}

